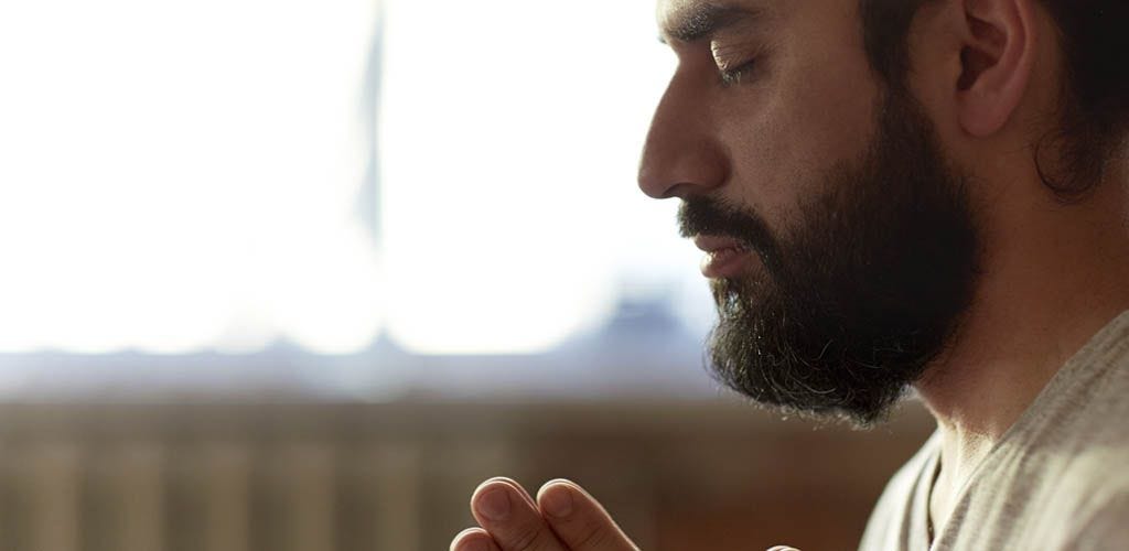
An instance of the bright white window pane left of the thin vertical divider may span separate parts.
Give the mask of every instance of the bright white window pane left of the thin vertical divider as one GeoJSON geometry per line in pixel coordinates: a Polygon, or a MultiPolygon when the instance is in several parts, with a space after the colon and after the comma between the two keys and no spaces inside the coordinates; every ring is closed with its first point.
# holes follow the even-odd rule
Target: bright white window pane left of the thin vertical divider
{"type": "Polygon", "coordinates": [[[0,5],[0,351],[366,346],[376,24],[374,0],[0,5]]]}

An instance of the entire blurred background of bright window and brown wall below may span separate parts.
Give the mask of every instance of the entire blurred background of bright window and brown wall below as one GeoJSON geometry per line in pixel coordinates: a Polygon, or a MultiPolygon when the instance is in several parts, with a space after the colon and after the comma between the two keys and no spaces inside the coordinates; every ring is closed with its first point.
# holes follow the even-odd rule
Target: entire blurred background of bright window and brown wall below
{"type": "Polygon", "coordinates": [[[781,420],[634,170],[649,0],[0,3],[0,550],[852,549],[931,430],[781,420]]]}

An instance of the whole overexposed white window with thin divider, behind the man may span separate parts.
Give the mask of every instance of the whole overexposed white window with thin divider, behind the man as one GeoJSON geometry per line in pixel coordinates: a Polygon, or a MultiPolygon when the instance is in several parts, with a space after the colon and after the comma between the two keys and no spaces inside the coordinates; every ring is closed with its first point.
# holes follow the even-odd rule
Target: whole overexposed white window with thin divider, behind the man
{"type": "Polygon", "coordinates": [[[0,5],[2,368],[545,355],[629,303],[702,334],[676,205],[634,185],[674,62],[651,10],[0,5]]]}

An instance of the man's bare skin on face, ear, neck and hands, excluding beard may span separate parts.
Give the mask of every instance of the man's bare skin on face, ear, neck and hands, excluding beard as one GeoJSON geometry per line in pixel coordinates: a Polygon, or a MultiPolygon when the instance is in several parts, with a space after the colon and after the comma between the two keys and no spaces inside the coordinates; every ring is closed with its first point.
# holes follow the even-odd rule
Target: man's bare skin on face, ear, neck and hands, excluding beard
{"type": "MultiPolygon", "coordinates": [[[[659,0],[660,28],[676,27],[700,1],[659,0]]],[[[799,199],[825,182],[821,174],[861,155],[881,84],[863,50],[857,0],[733,3],[765,12],[692,42],[664,32],[680,64],[655,114],[639,185],[658,199],[723,198],[787,231],[799,199]],[[753,56],[756,69],[723,85],[719,70],[753,56]]],[[[1064,76],[1053,21],[1034,0],[935,2],[916,18],[910,45],[910,89],[951,163],[972,176],[983,240],[973,305],[916,385],[943,436],[930,504],[940,527],[974,466],[1062,364],[1129,309],[1129,170],[1114,163],[1071,204],[1040,180],[1034,145],[1057,128],[1064,76]]],[[[571,482],[550,482],[534,499],[492,479],[471,506],[481,527],[456,536],[453,550],[636,549],[571,482]],[[492,491],[509,496],[506,518],[487,514],[492,491]],[[572,502],[566,517],[550,513],[560,496],[572,502]]]]}

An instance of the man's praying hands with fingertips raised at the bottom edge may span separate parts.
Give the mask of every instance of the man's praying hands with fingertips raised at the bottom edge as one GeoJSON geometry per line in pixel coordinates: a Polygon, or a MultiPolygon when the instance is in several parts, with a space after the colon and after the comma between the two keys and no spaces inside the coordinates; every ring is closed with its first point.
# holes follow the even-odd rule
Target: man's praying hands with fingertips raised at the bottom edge
{"type": "Polygon", "coordinates": [[[588,492],[567,480],[541,487],[534,500],[510,479],[490,479],[471,498],[482,527],[450,542],[452,551],[639,551],[588,492]]]}

